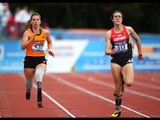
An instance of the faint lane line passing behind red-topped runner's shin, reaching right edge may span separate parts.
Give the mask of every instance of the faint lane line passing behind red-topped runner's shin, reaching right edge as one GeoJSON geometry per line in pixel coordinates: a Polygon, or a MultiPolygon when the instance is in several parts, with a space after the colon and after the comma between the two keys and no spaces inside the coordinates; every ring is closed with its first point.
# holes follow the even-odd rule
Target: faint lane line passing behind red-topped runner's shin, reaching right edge
{"type": "MultiPolygon", "coordinates": [[[[80,75],[80,74],[70,74],[72,76],[75,76],[75,77],[79,77],[79,78],[82,78],[84,80],[88,80],[90,82],[93,82],[93,83],[96,83],[96,84],[99,84],[99,85],[102,85],[102,86],[106,86],[106,87],[110,87],[110,88],[114,88],[114,85],[112,84],[109,84],[107,82],[103,82],[103,81],[100,81],[100,80],[97,80],[93,77],[87,77],[85,75],[80,75]]],[[[142,93],[142,92],[137,92],[137,91],[133,91],[133,90],[129,90],[127,88],[125,88],[125,91],[128,92],[128,93],[132,93],[132,94],[135,94],[135,95],[139,95],[139,96],[142,96],[142,97],[146,97],[146,98],[149,98],[149,99],[152,99],[152,100],[156,100],[156,101],[160,101],[160,98],[158,97],[154,97],[154,96],[151,96],[151,95],[147,95],[145,93],[142,93]]]]}

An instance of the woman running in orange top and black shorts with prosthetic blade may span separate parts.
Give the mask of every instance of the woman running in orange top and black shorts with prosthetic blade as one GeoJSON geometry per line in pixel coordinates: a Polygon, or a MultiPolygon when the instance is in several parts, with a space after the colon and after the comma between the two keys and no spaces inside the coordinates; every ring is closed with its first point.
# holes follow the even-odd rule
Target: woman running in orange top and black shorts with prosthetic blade
{"type": "Polygon", "coordinates": [[[26,49],[24,58],[24,75],[26,80],[26,99],[31,97],[33,79],[37,81],[37,104],[42,106],[42,80],[46,72],[47,60],[45,58],[44,45],[48,43],[48,53],[54,56],[52,51],[53,44],[48,30],[40,27],[41,16],[38,13],[32,13],[30,20],[26,23],[21,49],[26,49]]]}

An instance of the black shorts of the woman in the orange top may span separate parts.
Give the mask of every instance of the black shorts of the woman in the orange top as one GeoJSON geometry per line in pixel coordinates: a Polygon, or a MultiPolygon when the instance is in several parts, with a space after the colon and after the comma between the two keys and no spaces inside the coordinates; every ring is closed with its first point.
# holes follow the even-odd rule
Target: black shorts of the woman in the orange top
{"type": "Polygon", "coordinates": [[[24,58],[24,68],[33,68],[35,69],[37,65],[44,63],[47,65],[47,60],[45,56],[40,56],[40,57],[31,57],[31,56],[26,56],[24,58]]]}

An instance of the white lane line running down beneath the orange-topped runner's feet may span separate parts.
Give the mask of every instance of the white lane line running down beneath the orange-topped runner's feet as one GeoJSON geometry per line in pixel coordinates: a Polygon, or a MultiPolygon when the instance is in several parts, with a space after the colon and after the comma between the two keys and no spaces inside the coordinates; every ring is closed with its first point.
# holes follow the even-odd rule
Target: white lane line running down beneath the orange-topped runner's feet
{"type": "MultiPolygon", "coordinates": [[[[24,76],[22,74],[19,74],[23,79],[24,76]]],[[[37,85],[33,83],[33,87],[37,89],[37,85]]],[[[76,118],[75,115],[73,115],[69,110],[67,110],[65,107],[63,107],[60,103],[58,103],[55,99],[53,99],[49,94],[47,94],[44,90],[42,90],[42,94],[45,95],[49,100],[51,100],[53,103],[55,103],[58,107],[60,107],[64,112],[66,112],[69,116],[72,118],[76,118]]]]}

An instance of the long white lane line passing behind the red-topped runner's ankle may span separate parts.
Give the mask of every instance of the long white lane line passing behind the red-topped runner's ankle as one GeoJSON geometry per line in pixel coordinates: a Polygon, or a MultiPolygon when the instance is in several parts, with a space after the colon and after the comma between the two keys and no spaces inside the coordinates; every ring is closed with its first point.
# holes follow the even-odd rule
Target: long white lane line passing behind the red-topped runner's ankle
{"type": "MultiPolygon", "coordinates": [[[[103,97],[103,96],[101,96],[101,95],[99,95],[99,94],[93,93],[92,91],[89,91],[89,90],[87,90],[87,89],[85,89],[85,88],[83,88],[83,87],[80,87],[80,86],[76,85],[76,84],[73,84],[73,83],[71,83],[71,82],[68,82],[67,80],[65,80],[65,79],[63,79],[63,78],[61,78],[61,77],[57,77],[57,76],[55,76],[55,75],[54,75],[54,76],[53,76],[53,75],[48,75],[48,76],[51,77],[51,78],[53,78],[54,80],[57,80],[57,81],[65,84],[65,85],[68,85],[68,86],[70,86],[70,87],[72,87],[72,88],[78,89],[78,90],[80,90],[80,91],[82,91],[82,92],[84,92],[84,93],[87,93],[87,94],[89,94],[89,95],[95,96],[95,97],[100,98],[100,99],[102,99],[102,100],[104,100],[104,101],[107,101],[107,102],[110,102],[110,103],[114,104],[114,101],[112,101],[112,100],[110,100],[110,99],[108,99],[108,98],[105,98],[105,97],[103,97]]],[[[127,110],[129,110],[129,111],[132,111],[132,112],[134,112],[134,113],[136,113],[136,114],[138,114],[138,115],[141,115],[141,116],[143,116],[143,117],[150,118],[150,116],[145,115],[145,114],[143,114],[143,113],[140,113],[140,112],[138,112],[138,111],[136,111],[136,110],[133,110],[133,109],[131,109],[131,108],[129,108],[129,107],[126,107],[126,106],[124,106],[124,105],[122,105],[122,107],[123,107],[124,109],[127,109],[127,110]]]]}

